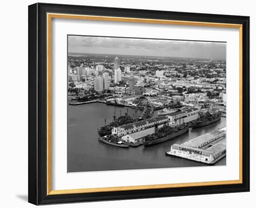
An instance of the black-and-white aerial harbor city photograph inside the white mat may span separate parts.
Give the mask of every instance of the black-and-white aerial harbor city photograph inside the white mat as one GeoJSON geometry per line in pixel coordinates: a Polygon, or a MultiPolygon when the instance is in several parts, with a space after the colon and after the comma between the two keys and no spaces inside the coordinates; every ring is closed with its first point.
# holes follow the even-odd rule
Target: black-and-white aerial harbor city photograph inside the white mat
{"type": "Polygon", "coordinates": [[[67,172],[226,165],[226,42],[67,36],[67,172]]]}

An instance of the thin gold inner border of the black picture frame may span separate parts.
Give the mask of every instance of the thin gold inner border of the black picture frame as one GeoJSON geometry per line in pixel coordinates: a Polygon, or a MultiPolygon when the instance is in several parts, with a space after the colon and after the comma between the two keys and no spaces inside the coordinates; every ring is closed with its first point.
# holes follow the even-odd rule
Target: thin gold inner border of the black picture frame
{"type": "Polygon", "coordinates": [[[74,15],[74,14],[63,14],[63,13],[47,13],[47,195],[93,193],[93,192],[123,191],[123,190],[142,190],[142,189],[163,189],[163,188],[243,183],[243,123],[242,121],[243,121],[243,25],[212,23],[212,22],[155,20],[155,19],[141,19],[141,18],[121,18],[121,17],[107,17],[107,16],[74,15]],[[51,152],[51,81],[52,81],[51,80],[51,71],[52,71],[51,23],[53,18],[239,28],[239,82],[240,82],[239,83],[239,180],[172,183],[172,184],[141,185],[141,186],[122,186],[122,187],[107,187],[107,188],[52,190],[51,189],[52,188],[52,179],[51,179],[51,176],[52,176],[52,171],[51,171],[51,167],[52,167],[52,163],[51,163],[51,153],[52,153],[51,152]]]}

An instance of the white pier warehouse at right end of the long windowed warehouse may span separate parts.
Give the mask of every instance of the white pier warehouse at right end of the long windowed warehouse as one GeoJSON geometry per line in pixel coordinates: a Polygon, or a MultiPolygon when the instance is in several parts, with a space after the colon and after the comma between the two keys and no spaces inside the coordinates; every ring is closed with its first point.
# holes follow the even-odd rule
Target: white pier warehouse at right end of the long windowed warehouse
{"type": "Polygon", "coordinates": [[[168,123],[170,125],[180,125],[182,123],[188,123],[199,118],[199,110],[197,108],[183,109],[182,111],[174,112],[169,115],[168,123]]]}

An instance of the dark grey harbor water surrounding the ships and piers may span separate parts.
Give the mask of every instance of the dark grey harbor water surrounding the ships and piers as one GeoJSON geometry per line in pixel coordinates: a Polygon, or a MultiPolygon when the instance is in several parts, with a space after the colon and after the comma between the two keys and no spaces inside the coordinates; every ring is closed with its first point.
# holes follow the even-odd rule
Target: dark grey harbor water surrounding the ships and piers
{"type": "MultiPolygon", "coordinates": [[[[101,126],[113,121],[114,113],[117,117],[127,112],[131,117],[142,115],[142,111],[127,107],[116,107],[103,103],[68,105],[67,116],[67,172],[178,168],[207,166],[203,163],[166,156],[173,143],[184,143],[226,125],[226,118],[208,126],[189,129],[189,133],[178,136],[164,143],[153,146],[120,148],[98,140],[101,126]],[[121,110],[121,111],[120,111],[121,110]],[[137,111],[137,112],[136,112],[137,111]]],[[[157,117],[157,111],[153,117],[157,117]]],[[[215,165],[225,165],[226,157],[215,165]]]]}

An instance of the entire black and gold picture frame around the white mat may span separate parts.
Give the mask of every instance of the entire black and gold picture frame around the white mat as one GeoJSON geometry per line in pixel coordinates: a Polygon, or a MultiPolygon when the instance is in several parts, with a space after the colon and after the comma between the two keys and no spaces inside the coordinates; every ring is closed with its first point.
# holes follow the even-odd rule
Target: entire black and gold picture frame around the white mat
{"type": "Polygon", "coordinates": [[[28,6],[28,202],[35,205],[249,191],[249,17],[36,3],[28,6]],[[52,189],[52,20],[239,29],[239,180],[52,189]]]}

